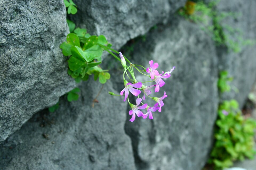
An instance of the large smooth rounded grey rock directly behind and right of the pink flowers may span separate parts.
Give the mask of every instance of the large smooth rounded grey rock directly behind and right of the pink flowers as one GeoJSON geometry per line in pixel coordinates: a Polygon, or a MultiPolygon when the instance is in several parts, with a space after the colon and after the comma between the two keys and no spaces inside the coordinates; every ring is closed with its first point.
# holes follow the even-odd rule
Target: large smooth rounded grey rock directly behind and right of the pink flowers
{"type": "Polygon", "coordinates": [[[147,34],[146,43],[136,45],[134,51],[133,63],[148,67],[153,60],[159,71],[176,66],[156,94],[168,95],[161,113],[154,112],[153,120],[126,122],[137,169],[202,169],[213,142],[218,108],[214,42],[198,25],[173,18],[170,25],[147,34]]]}

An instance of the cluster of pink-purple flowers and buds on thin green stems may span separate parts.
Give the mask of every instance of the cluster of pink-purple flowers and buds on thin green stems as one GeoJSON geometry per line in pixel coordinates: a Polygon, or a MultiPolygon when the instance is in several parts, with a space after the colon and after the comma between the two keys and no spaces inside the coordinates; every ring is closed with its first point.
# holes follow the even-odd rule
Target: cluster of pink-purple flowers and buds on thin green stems
{"type": "MultiPolygon", "coordinates": [[[[162,72],[159,74],[159,72],[156,70],[158,68],[158,63],[154,63],[153,60],[149,62],[149,67],[146,69],[145,67],[141,65],[135,65],[132,64],[129,60],[127,60],[121,52],[119,52],[119,56],[121,58],[121,64],[124,67],[124,72],[123,72],[123,80],[124,80],[124,89],[120,92],[120,95],[123,96],[123,93],[125,93],[125,98],[123,101],[126,101],[128,99],[128,103],[131,107],[131,110],[129,111],[129,114],[132,115],[130,121],[133,122],[135,120],[136,115],[138,117],[143,117],[143,119],[146,119],[149,116],[149,119],[153,119],[153,114],[152,112],[161,112],[161,109],[164,105],[163,99],[167,97],[166,93],[164,92],[164,95],[162,97],[151,97],[149,96],[152,92],[150,91],[151,88],[155,87],[155,93],[159,92],[160,87],[163,87],[165,85],[165,82],[163,79],[169,78],[171,76],[171,72],[175,69],[175,66],[167,72],[162,72]],[[129,62],[129,66],[126,65],[126,61],[129,62]],[[142,67],[144,70],[139,70],[137,66],[142,67]],[[155,84],[152,84],[151,86],[146,86],[143,85],[143,83],[147,82],[138,82],[135,78],[134,75],[134,68],[141,74],[148,76],[151,78],[151,81],[147,82],[155,82],[155,84]],[[144,74],[144,73],[148,74],[144,74]],[[130,76],[128,75],[130,73],[130,76]],[[131,80],[132,83],[128,82],[125,79],[125,75],[127,78],[131,80]],[[136,99],[136,105],[130,103],[129,101],[129,92],[131,92],[132,95],[137,96],[138,98],[136,99]],[[142,98],[139,97],[139,94],[143,92],[142,98]],[[146,96],[152,100],[154,100],[156,103],[154,106],[149,106],[147,103],[143,104],[142,100],[146,100],[146,96]],[[142,104],[141,106],[139,106],[142,104]],[[146,113],[143,113],[141,110],[146,110],[146,113]]],[[[112,94],[112,92],[110,93],[112,94]]],[[[113,95],[113,94],[112,94],[113,95]]]]}

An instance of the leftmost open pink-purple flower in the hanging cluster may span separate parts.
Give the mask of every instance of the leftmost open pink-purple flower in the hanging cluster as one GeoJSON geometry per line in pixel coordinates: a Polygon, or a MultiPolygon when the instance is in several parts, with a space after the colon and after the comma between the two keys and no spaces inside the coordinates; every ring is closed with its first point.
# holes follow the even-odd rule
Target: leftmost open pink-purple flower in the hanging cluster
{"type": "MultiPolygon", "coordinates": [[[[141,82],[131,84],[125,80],[125,84],[126,84],[125,88],[120,92],[121,96],[123,95],[123,92],[125,92],[125,100],[127,99],[129,92],[131,92],[134,96],[138,96],[141,93],[140,90],[134,89],[134,88],[141,88],[141,86],[142,86],[141,82]]],[[[125,101],[125,100],[123,100],[123,101],[125,101]]]]}

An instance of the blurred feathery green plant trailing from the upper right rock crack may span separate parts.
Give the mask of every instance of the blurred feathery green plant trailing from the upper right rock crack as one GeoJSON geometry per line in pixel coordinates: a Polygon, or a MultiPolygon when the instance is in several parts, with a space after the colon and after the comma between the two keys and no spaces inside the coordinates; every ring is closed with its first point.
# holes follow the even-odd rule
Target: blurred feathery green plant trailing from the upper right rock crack
{"type": "MultiPolygon", "coordinates": [[[[226,17],[237,18],[239,14],[233,12],[218,12],[216,5],[220,0],[210,1],[205,4],[203,1],[195,3],[194,11],[186,5],[181,8],[178,13],[201,26],[201,29],[209,34],[215,41],[216,45],[225,45],[228,49],[237,53],[241,51],[241,47],[245,45],[253,45],[255,41],[244,40],[242,32],[229,25],[221,24],[226,17]],[[237,37],[237,38],[234,38],[237,37]]],[[[187,1],[191,2],[191,1],[187,1]]]]}

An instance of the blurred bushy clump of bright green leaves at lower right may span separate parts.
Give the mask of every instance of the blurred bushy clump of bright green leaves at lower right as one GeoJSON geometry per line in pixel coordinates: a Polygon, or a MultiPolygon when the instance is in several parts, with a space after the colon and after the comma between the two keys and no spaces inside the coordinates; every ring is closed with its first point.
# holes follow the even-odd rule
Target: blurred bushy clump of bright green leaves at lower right
{"type": "Polygon", "coordinates": [[[235,160],[252,159],[254,150],[254,130],[256,121],[244,119],[236,100],[223,101],[219,105],[214,132],[215,143],[209,162],[215,169],[233,165],[235,160]]]}

